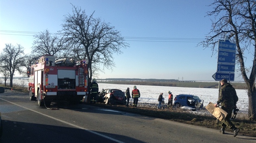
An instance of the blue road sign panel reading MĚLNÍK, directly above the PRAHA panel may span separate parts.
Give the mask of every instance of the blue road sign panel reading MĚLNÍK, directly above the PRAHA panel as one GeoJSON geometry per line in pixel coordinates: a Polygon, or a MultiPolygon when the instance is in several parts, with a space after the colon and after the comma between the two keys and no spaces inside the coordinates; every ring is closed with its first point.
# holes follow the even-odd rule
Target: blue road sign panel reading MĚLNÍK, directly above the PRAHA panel
{"type": "Polygon", "coordinates": [[[219,49],[218,63],[232,63],[236,62],[236,51],[227,51],[219,49]]]}

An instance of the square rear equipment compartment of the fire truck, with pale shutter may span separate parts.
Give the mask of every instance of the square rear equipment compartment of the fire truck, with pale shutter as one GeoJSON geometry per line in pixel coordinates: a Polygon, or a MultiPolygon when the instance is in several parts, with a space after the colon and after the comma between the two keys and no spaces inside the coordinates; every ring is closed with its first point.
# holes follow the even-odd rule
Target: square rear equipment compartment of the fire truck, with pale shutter
{"type": "Polygon", "coordinates": [[[76,89],[76,71],[58,69],[58,89],[76,89]]]}

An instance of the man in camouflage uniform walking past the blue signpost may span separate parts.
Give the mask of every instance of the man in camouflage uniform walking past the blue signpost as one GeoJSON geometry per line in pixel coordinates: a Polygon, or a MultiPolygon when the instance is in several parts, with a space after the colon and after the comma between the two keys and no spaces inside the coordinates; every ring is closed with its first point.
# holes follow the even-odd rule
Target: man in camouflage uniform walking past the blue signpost
{"type": "Polygon", "coordinates": [[[232,116],[232,110],[236,109],[236,102],[238,101],[238,97],[236,95],[236,90],[232,87],[231,84],[228,83],[226,79],[221,80],[221,90],[219,94],[219,99],[215,104],[215,107],[221,105],[221,109],[225,110],[228,115],[222,120],[221,130],[222,134],[225,134],[225,128],[228,126],[234,131],[234,137],[236,137],[237,133],[239,132],[239,128],[236,128],[234,124],[230,121],[232,116]]]}

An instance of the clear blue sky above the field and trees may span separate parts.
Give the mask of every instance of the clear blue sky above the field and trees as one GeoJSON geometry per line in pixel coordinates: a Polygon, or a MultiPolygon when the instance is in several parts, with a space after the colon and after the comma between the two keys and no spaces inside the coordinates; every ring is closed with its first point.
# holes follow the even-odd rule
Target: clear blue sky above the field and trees
{"type": "MultiPolygon", "coordinates": [[[[211,0],[0,0],[0,49],[6,43],[31,51],[33,35],[61,30],[72,5],[121,32],[130,48],[113,55],[113,71],[98,78],[214,80],[217,53],[197,46],[210,32],[211,0]],[[11,32],[6,32],[11,31],[11,32]],[[14,33],[20,31],[22,33],[14,33]],[[24,33],[27,32],[27,33],[24,33]],[[130,37],[135,37],[131,39],[130,37]],[[148,39],[139,39],[148,38],[148,39]],[[159,39],[156,39],[159,38],[159,39]],[[167,39],[163,39],[167,38],[167,39]]],[[[213,17],[211,17],[213,18],[213,17]]],[[[242,81],[235,74],[235,81],[242,81]]]]}

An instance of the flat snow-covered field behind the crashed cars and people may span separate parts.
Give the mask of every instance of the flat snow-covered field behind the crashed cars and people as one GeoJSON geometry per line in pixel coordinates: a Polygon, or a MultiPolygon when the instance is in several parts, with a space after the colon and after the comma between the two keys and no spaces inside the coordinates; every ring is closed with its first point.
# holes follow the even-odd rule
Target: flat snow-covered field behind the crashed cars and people
{"type": "MultiPolygon", "coordinates": [[[[0,79],[0,83],[4,83],[3,79],[0,79]]],[[[9,80],[7,80],[9,83],[9,80]]],[[[13,80],[13,84],[27,87],[28,80],[13,80]]],[[[99,91],[106,88],[116,88],[122,91],[125,91],[127,87],[130,88],[130,92],[132,91],[134,85],[126,85],[126,84],[102,84],[99,83],[99,91]]],[[[139,98],[138,106],[140,103],[149,103],[149,104],[157,104],[158,96],[160,93],[163,93],[163,97],[167,103],[168,99],[168,91],[170,90],[174,97],[179,94],[190,94],[197,95],[200,99],[204,100],[204,106],[206,106],[209,102],[216,103],[218,99],[218,89],[217,88],[184,88],[184,87],[171,87],[171,86],[145,86],[145,85],[136,85],[141,93],[141,97],[139,98]]],[[[248,96],[246,90],[236,89],[236,93],[239,97],[239,101],[237,102],[237,107],[240,111],[247,112],[248,111],[248,96]]],[[[157,107],[157,106],[156,106],[157,107]]]]}

